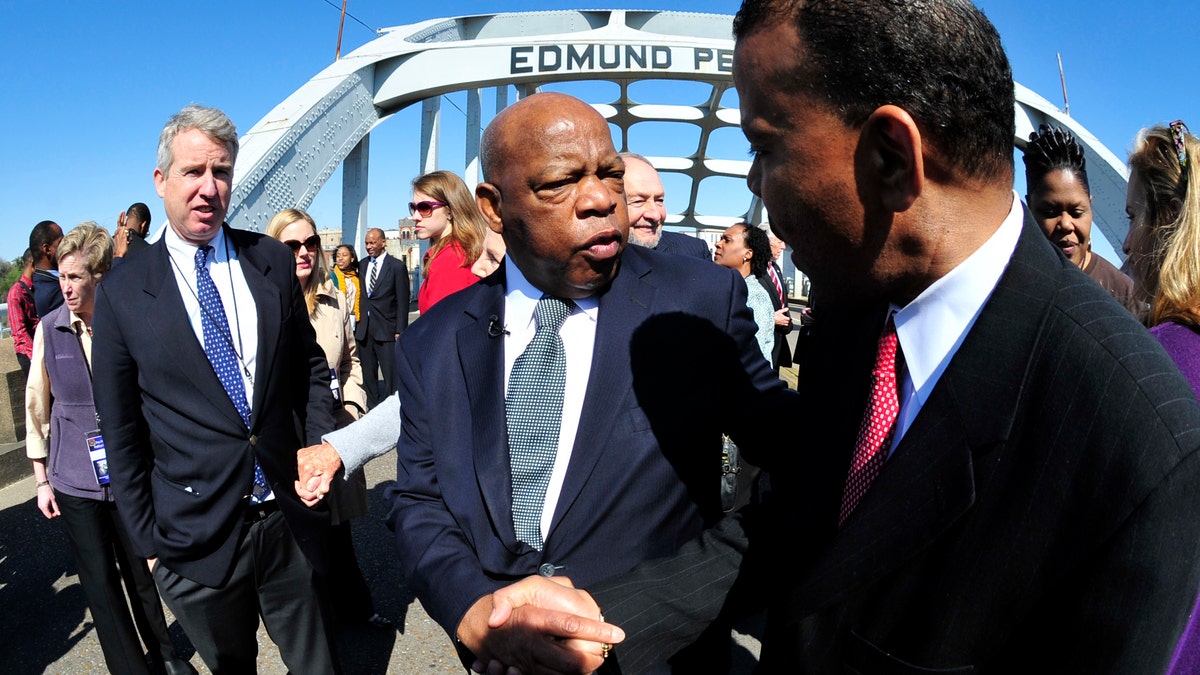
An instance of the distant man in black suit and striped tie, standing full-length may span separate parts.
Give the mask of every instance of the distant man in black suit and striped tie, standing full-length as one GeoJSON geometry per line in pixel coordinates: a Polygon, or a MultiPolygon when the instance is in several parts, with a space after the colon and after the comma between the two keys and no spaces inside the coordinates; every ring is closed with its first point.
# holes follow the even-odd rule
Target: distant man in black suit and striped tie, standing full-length
{"type": "Polygon", "coordinates": [[[359,261],[362,280],[362,319],[354,328],[362,362],[362,380],[367,387],[367,405],[396,393],[396,340],[408,328],[408,270],[388,255],[383,231],[372,227],[365,240],[367,257],[359,261]],[[379,390],[379,370],[383,390],[379,390]]]}

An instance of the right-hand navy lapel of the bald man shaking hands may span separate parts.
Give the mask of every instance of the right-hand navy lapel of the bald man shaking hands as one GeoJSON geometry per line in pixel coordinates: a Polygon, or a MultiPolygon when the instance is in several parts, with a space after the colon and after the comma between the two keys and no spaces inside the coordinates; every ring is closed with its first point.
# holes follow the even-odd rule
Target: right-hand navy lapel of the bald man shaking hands
{"type": "Polygon", "coordinates": [[[629,413],[626,401],[634,390],[629,346],[634,330],[650,316],[654,305],[655,287],[647,281],[649,274],[650,265],[646,259],[625,253],[619,274],[600,297],[592,371],[550,536],[580,496],[596,462],[608,450],[608,437],[618,425],[619,416],[629,413]]]}

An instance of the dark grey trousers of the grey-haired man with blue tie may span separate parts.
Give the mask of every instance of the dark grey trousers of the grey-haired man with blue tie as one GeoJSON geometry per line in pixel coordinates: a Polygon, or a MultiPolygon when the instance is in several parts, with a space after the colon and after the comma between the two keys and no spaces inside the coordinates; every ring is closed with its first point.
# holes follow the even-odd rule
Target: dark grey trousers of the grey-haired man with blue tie
{"type": "Polygon", "coordinates": [[[259,616],[289,671],[335,673],[313,571],[277,510],[245,525],[222,586],[197,584],[162,561],[154,579],[214,674],[257,671],[259,616]]]}

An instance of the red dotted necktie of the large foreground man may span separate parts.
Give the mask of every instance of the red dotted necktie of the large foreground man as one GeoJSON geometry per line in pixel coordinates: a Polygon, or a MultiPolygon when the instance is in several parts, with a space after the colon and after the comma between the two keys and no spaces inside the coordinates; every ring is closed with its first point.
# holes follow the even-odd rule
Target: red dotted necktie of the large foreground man
{"type": "Polygon", "coordinates": [[[895,322],[888,317],[875,353],[875,370],[871,371],[871,400],[866,404],[863,424],[854,443],[854,460],[846,474],[846,489],[841,496],[838,525],[846,522],[851,512],[878,476],[895,434],[896,417],[900,416],[900,399],[896,394],[896,351],[900,339],[895,322]]]}

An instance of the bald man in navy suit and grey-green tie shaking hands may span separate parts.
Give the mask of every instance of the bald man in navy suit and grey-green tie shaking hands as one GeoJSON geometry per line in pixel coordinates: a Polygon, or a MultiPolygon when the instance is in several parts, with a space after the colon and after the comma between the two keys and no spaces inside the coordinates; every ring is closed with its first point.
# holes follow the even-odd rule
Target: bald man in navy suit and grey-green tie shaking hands
{"type": "Polygon", "coordinates": [[[408,584],[475,653],[492,591],[530,574],[599,580],[715,522],[721,432],[760,442],[780,413],[757,401],[792,399],[756,353],[737,275],[625,245],[625,167],[593,108],[562,94],[522,100],[488,125],[482,165],[478,202],[508,257],[401,336],[389,490],[408,584]],[[546,295],[570,301],[562,423],[547,432],[557,452],[526,536],[506,411],[546,295]],[[701,362],[710,368],[680,365],[701,362]],[[702,414],[714,402],[719,414],[702,414]]]}

